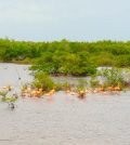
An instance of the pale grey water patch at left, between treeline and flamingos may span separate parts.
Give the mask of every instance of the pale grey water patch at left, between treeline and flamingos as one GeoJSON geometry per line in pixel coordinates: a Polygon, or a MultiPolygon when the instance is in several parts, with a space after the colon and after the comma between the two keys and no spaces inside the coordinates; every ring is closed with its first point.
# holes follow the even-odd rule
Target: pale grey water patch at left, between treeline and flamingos
{"type": "Polygon", "coordinates": [[[30,82],[28,65],[0,63],[0,87],[13,85],[18,89],[22,84],[30,82]]]}

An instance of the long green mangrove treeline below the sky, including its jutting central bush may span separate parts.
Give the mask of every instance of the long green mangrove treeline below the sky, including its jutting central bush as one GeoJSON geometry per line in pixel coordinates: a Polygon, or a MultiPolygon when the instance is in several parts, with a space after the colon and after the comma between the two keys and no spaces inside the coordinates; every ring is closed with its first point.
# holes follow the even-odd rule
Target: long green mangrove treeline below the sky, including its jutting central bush
{"type": "Polygon", "coordinates": [[[34,64],[50,74],[86,76],[98,66],[130,66],[130,41],[26,42],[0,39],[0,61],[34,64]]]}

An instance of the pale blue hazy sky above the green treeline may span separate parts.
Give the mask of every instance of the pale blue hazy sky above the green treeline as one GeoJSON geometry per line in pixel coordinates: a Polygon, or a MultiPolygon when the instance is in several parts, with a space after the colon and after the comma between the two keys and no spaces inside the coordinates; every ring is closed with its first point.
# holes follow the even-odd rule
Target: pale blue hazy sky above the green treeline
{"type": "Polygon", "coordinates": [[[130,0],[0,0],[0,38],[130,40],[130,0]]]}

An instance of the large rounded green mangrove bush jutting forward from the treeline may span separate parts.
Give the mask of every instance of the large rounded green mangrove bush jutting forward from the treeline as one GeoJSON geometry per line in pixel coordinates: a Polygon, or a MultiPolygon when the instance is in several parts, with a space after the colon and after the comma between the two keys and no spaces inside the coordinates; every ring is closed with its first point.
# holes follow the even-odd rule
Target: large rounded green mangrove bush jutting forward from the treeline
{"type": "Polygon", "coordinates": [[[77,54],[60,51],[55,53],[44,52],[31,68],[52,75],[63,74],[73,76],[86,76],[96,71],[95,66],[89,61],[88,53],[86,52],[77,54]]]}

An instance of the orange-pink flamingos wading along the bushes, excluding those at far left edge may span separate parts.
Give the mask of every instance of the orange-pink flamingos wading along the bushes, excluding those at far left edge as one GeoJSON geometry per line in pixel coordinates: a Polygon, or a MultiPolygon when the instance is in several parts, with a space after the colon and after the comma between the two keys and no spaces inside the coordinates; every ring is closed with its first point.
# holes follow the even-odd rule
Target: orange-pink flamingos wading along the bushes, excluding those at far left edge
{"type": "MultiPolygon", "coordinates": [[[[120,92],[121,88],[119,85],[116,87],[108,87],[105,89],[104,87],[95,88],[95,89],[73,89],[69,88],[64,92],[70,95],[76,95],[78,97],[84,97],[89,93],[117,93],[120,92]]],[[[22,88],[22,96],[29,96],[29,97],[41,97],[41,96],[52,96],[55,93],[55,89],[52,89],[48,93],[43,91],[43,89],[31,89],[30,87],[22,88]]]]}

